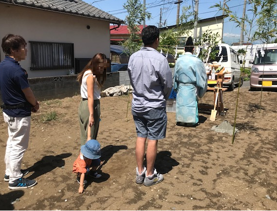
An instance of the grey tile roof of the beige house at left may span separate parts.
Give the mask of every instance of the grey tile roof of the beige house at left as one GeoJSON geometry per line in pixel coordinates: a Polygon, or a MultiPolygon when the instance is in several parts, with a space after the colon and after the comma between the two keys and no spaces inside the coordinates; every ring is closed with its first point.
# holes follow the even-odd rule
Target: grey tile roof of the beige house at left
{"type": "Polygon", "coordinates": [[[124,22],[82,0],[0,0],[1,2],[107,20],[110,23],[124,22]]]}

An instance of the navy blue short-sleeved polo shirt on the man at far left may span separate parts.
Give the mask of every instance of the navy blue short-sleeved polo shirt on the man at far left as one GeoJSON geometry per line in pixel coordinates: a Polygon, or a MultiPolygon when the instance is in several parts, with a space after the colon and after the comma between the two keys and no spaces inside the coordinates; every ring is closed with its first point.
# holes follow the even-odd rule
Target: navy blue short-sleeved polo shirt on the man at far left
{"type": "Polygon", "coordinates": [[[32,105],[28,103],[22,89],[28,88],[27,71],[21,68],[13,58],[6,56],[0,63],[0,90],[5,105],[27,103],[24,108],[3,109],[11,117],[27,117],[31,115],[32,105]]]}

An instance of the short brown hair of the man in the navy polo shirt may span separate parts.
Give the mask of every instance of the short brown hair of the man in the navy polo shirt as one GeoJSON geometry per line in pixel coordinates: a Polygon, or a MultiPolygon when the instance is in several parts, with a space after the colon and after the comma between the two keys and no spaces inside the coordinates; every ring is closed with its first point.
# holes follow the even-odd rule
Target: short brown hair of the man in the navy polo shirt
{"type": "Polygon", "coordinates": [[[2,39],[2,49],[5,55],[10,55],[11,50],[19,50],[20,45],[26,45],[26,41],[22,36],[8,34],[2,39]]]}

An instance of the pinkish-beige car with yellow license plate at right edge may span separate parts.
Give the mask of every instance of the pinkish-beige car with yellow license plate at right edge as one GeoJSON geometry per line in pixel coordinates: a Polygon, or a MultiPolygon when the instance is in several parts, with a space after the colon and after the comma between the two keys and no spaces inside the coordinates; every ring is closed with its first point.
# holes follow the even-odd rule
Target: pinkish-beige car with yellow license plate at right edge
{"type": "Polygon", "coordinates": [[[257,88],[277,88],[277,45],[258,49],[250,74],[250,90],[257,88]],[[258,53],[258,55],[257,55],[258,53]],[[263,55],[263,56],[262,56],[263,55]]]}

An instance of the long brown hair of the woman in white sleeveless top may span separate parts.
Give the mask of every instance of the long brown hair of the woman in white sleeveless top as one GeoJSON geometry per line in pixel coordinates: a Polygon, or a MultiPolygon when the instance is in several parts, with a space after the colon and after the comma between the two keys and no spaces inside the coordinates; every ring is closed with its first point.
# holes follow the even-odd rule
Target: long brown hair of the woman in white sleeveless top
{"type": "Polygon", "coordinates": [[[103,87],[107,76],[107,67],[110,66],[110,62],[104,53],[96,53],[86,67],[77,76],[77,81],[82,84],[82,78],[87,70],[92,70],[92,74],[97,79],[97,85],[103,87]],[[101,71],[102,70],[102,71],[101,71]]]}

